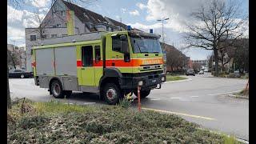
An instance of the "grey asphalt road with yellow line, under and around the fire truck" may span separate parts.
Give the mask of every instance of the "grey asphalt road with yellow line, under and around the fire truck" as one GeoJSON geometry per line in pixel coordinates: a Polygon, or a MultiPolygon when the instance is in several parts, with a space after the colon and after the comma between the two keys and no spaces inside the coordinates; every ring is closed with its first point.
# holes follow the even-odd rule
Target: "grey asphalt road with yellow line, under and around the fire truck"
{"type": "MultiPolygon", "coordinates": [[[[142,109],[178,114],[203,128],[217,130],[249,140],[249,102],[227,97],[225,93],[242,90],[247,80],[213,78],[210,74],[187,76],[186,82],[165,83],[142,99],[142,109]]],[[[11,98],[30,98],[48,102],[54,99],[46,89],[34,86],[33,78],[10,79],[11,98]]],[[[104,104],[97,94],[74,92],[63,100],[77,104],[104,104]]],[[[133,103],[134,108],[137,103],[133,103]]]]}

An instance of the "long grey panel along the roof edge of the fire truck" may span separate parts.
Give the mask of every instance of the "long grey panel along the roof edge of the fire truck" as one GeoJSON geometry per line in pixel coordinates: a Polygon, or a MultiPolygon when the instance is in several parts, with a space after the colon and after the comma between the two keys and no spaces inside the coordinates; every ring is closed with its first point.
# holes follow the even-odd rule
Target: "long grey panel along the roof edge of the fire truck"
{"type": "Polygon", "coordinates": [[[102,38],[102,35],[106,34],[104,31],[97,31],[92,33],[86,34],[76,34],[76,35],[67,35],[62,37],[56,38],[45,38],[45,39],[38,39],[39,46],[43,45],[53,45],[53,44],[60,44],[60,43],[68,43],[68,42],[84,42],[84,41],[93,41],[102,38]]]}

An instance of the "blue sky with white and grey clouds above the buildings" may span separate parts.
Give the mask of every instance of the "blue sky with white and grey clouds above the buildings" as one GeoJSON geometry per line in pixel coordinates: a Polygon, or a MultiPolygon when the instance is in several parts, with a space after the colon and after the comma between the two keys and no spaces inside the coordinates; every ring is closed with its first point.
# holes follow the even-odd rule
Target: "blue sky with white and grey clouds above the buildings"
{"type": "MultiPolygon", "coordinates": [[[[14,8],[7,5],[7,40],[17,46],[25,46],[25,28],[38,26],[35,13],[44,18],[49,10],[51,0],[24,0],[24,6],[14,8]]],[[[73,0],[75,2],[75,0],[73,0]]],[[[225,0],[223,0],[225,1],[225,0]]],[[[248,0],[236,0],[241,3],[244,13],[248,13],[248,0]]],[[[170,18],[164,24],[165,42],[178,49],[186,46],[182,34],[186,31],[184,22],[189,22],[191,11],[197,10],[208,0],[97,0],[89,5],[78,1],[78,6],[85,7],[103,16],[121,21],[132,27],[162,34],[159,18],[170,18]]],[[[248,33],[248,32],[246,32],[248,33]]],[[[247,34],[248,35],[248,34],[247,34]]],[[[162,39],[161,39],[162,41],[162,39]]],[[[210,50],[184,50],[190,59],[206,59],[210,50]]]]}

